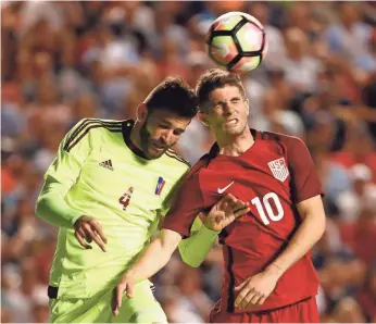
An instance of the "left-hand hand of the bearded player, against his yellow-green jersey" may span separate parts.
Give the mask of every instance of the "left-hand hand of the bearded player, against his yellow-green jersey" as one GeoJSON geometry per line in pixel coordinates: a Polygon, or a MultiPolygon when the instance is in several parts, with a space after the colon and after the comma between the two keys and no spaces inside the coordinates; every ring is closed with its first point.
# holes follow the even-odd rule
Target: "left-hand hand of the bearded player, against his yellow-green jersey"
{"type": "Polygon", "coordinates": [[[74,224],[74,236],[85,249],[92,249],[89,244],[95,241],[102,251],[105,252],[105,244],[108,240],[103,234],[101,225],[95,219],[80,216],[74,224]]]}

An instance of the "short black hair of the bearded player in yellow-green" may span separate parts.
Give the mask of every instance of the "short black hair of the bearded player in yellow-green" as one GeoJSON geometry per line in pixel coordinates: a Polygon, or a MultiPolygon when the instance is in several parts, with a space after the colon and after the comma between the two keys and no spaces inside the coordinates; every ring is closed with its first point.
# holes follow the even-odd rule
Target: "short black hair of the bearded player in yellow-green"
{"type": "Polygon", "coordinates": [[[149,94],[143,103],[149,112],[167,109],[189,119],[198,113],[195,90],[181,77],[166,77],[149,94]]]}

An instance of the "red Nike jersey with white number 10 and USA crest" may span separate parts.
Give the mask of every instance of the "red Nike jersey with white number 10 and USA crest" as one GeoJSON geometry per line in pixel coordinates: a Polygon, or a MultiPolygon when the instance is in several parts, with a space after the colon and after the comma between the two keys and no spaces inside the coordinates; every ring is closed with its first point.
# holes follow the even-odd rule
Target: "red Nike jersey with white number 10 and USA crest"
{"type": "MultiPolygon", "coordinates": [[[[189,236],[202,210],[210,210],[224,195],[250,201],[248,214],[220,234],[226,274],[222,306],[234,307],[234,288],[265,270],[286,248],[301,223],[296,203],[322,194],[311,155],[302,140],[251,129],[253,146],[239,157],[218,154],[218,147],[203,155],[181,184],[163,228],[189,236]]],[[[310,253],[279,278],[275,290],[253,311],[287,306],[317,294],[318,279],[310,253]]]]}

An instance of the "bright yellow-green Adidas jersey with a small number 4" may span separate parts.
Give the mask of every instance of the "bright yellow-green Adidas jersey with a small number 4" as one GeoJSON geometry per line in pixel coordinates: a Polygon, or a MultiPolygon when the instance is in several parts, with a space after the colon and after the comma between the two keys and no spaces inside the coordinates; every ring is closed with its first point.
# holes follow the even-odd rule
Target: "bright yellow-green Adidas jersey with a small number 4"
{"type": "Polygon", "coordinates": [[[173,150],[146,159],[129,140],[133,126],[133,121],[80,121],[45,175],[38,216],[51,223],[58,217],[43,214],[41,200],[51,190],[71,211],[55,222],[60,232],[50,285],[59,287],[59,297],[88,298],[117,279],[149,244],[189,169],[173,150]],[[87,250],[78,244],[73,224],[82,215],[100,223],[106,252],[96,244],[87,250]]]}

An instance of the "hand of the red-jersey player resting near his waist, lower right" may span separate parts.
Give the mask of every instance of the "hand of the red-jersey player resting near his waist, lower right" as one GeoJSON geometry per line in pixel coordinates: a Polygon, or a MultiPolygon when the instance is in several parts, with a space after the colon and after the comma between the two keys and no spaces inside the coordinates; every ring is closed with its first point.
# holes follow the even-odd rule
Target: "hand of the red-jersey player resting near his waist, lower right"
{"type": "Polygon", "coordinates": [[[263,304],[265,299],[275,289],[278,279],[278,274],[268,273],[266,271],[249,277],[235,288],[235,291],[240,290],[235,300],[235,307],[245,310],[263,304]]]}

